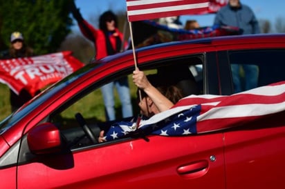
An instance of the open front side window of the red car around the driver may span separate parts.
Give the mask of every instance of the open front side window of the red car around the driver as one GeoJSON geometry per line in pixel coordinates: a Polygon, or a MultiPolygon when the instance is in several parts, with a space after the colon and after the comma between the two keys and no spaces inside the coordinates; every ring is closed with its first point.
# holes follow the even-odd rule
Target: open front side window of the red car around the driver
{"type": "MultiPolygon", "coordinates": [[[[144,70],[146,74],[160,74],[163,81],[169,84],[175,84],[178,88],[181,88],[184,96],[203,94],[203,64],[201,59],[197,57],[180,57],[179,59],[146,63],[145,66],[141,66],[140,70],[144,70]]],[[[132,81],[132,71],[133,70],[129,70],[129,72],[123,71],[117,74],[120,77],[125,77],[125,75],[128,77],[133,115],[137,117],[140,110],[136,97],[137,88],[132,81]]],[[[115,80],[118,79],[118,77],[113,76],[111,79],[115,80]]],[[[111,80],[105,79],[104,83],[110,81],[111,80]]],[[[131,121],[134,119],[134,117],[122,118],[119,97],[116,90],[114,90],[117,119],[115,121],[106,121],[104,101],[102,99],[100,86],[102,86],[102,84],[96,86],[96,83],[94,83],[94,86],[86,88],[84,94],[82,92],[78,97],[70,99],[67,102],[68,104],[66,103],[67,105],[63,104],[63,108],[59,108],[58,112],[55,112],[49,117],[49,121],[55,123],[59,130],[61,130],[62,137],[71,149],[94,144],[91,142],[89,136],[86,135],[82,126],[80,126],[80,121],[75,119],[75,117],[78,116],[77,113],[80,113],[80,117],[83,117],[86,125],[96,137],[98,137],[100,130],[107,130],[114,122],[131,121]]]]}

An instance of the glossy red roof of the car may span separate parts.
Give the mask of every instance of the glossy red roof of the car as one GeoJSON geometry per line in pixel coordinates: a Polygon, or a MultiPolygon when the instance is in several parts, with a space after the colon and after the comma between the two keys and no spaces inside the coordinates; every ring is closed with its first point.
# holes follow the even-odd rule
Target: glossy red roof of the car
{"type": "MultiPolygon", "coordinates": [[[[167,43],[160,43],[151,46],[145,46],[143,48],[136,49],[136,59],[138,63],[152,59],[152,56],[158,57],[174,57],[179,55],[196,54],[203,52],[211,52],[217,50],[239,50],[239,49],[254,49],[254,48],[284,48],[285,34],[245,34],[245,35],[229,35],[221,37],[206,37],[201,39],[189,39],[183,41],[172,41],[167,43]],[[177,50],[178,49],[178,50],[177,50]]],[[[130,61],[134,59],[133,50],[126,50],[114,54],[99,61],[93,61],[92,63],[118,63],[124,59],[130,61]]]]}

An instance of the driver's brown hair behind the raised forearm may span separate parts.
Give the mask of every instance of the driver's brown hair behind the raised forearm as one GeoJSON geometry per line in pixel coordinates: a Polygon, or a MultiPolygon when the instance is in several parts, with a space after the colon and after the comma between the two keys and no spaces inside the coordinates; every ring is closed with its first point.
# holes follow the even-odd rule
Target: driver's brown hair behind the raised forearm
{"type": "MultiPolygon", "coordinates": [[[[161,77],[158,77],[157,74],[149,74],[147,75],[147,79],[151,83],[152,86],[154,86],[161,94],[163,94],[167,99],[172,101],[172,103],[178,102],[180,99],[183,98],[183,94],[181,89],[179,89],[177,86],[174,85],[168,85],[165,83],[161,77]]],[[[140,95],[142,98],[147,97],[147,94],[143,91],[140,90],[140,95]]],[[[138,91],[137,91],[137,97],[138,96],[138,91]]]]}

